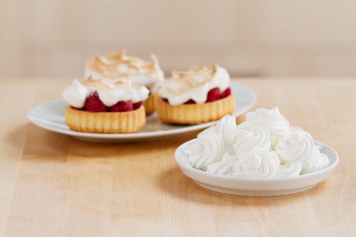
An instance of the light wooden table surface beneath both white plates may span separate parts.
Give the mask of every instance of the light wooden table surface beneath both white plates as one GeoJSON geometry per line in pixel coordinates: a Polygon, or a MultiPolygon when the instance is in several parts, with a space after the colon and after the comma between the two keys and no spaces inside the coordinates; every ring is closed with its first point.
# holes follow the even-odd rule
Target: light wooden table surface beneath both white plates
{"type": "MultiPolygon", "coordinates": [[[[201,188],[174,162],[189,135],[94,144],[28,122],[70,80],[0,80],[0,236],[356,236],[356,79],[237,79],[335,148],[313,189],[248,197],[201,188]]],[[[238,118],[241,122],[244,116],[238,118]]]]}

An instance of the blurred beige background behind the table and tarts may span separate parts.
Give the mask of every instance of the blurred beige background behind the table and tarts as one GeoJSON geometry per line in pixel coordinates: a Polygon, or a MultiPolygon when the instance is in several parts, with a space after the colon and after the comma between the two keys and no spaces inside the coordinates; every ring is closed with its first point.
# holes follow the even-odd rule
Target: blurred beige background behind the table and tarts
{"type": "Polygon", "coordinates": [[[82,78],[127,49],[234,77],[356,77],[356,1],[0,0],[0,78],[82,78]]]}

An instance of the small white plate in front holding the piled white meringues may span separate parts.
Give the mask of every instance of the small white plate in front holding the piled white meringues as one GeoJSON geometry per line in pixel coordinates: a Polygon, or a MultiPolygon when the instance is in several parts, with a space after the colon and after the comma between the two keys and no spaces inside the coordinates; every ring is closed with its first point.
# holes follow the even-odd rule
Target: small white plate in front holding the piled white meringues
{"type": "Polygon", "coordinates": [[[224,194],[234,194],[241,196],[280,196],[295,194],[313,188],[320,181],[330,176],[339,162],[337,152],[331,147],[321,142],[316,142],[321,153],[329,159],[329,165],[325,169],[310,174],[302,174],[291,178],[248,178],[248,177],[228,177],[219,174],[211,174],[195,169],[190,166],[187,154],[184,150],[189,144],[195,142],[192,139],[185,142],[175,152],[175,159],[179,168],[187,177],[193,179],[197,184],[206,189],[218,191],[224,194]]]}

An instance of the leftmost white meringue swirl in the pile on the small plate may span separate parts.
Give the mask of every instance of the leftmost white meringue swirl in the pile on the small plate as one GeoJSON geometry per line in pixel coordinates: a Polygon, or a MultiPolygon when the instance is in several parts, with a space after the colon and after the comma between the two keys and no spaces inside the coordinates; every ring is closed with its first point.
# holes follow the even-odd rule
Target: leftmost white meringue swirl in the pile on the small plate
{"type": "Polygon", "coordinates": [[[192,167],[206,171],[209,164],[221,161],[224,156],[224,142],[218,135],[201,135],[194,144],[187,147],[187,154],[187,162],[192,167]]]}

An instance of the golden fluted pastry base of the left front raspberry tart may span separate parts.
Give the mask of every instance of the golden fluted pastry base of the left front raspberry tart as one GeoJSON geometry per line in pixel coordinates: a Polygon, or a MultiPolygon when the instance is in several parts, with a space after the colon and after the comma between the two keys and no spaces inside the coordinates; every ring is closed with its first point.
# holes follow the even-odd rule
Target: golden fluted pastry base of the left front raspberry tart
{"type": "Polygon", "coordinates": [[[146,122],[144,106],[127,112],[88,112],[67,106],[65,115],[68,127],[78,132],[137,132],[146,122]]]}

